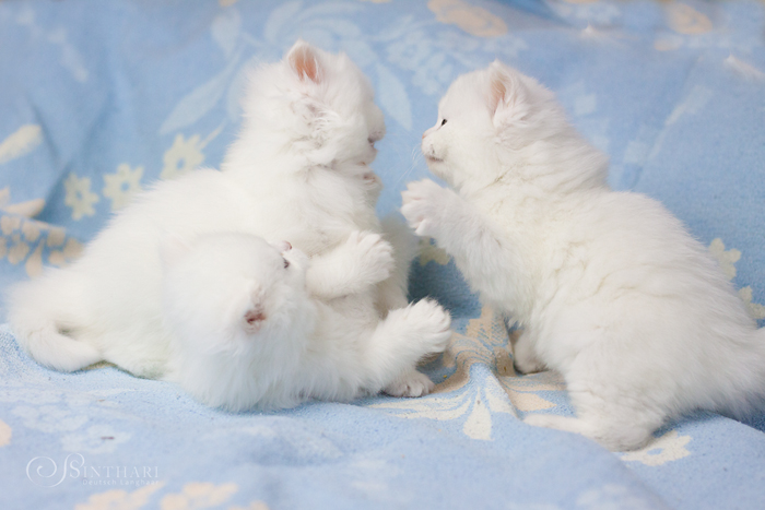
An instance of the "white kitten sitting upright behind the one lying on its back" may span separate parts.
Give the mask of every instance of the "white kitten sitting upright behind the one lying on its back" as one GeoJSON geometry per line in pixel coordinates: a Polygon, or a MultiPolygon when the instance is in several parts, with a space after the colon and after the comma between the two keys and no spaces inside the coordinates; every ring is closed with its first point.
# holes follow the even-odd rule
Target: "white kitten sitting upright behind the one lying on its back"
{"type": "MultiPolygon", "coordinates": [[[[391,227],[393,260],[375,234],[379,180],[368,165],[385,123],[368,80],[345,55],[298,41],[283,61],[254,73],[243,106],[243,130],[222,171],[157,183],[71,266],[11,290],[8,319],[32,357],[64,371],[105,359],[162,376],[169,334],[158,246],[166,235],[186,242],[222,230],[289,239],[313,259],[306,280],[314,295],[332,299],[377,285],[368,292],[381,316],[405,306],[414,250],[401,227],[391,227]]],[[[419,395],[432,386],[411,367],[389,391],[419,395]]]]}

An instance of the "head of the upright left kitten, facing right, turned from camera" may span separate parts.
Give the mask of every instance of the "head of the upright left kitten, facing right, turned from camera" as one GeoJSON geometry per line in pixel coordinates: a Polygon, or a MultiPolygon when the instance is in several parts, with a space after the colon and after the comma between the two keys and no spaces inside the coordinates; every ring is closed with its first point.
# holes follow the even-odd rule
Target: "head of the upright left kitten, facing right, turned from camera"
{"type": "Polygon", "coordinates": [[[243,106],[245,129],[310,165],[368,165],[385,135],[382,112],[361,70],[345,54],[303,40],[281,62],[252,74],[243,106]]]}

